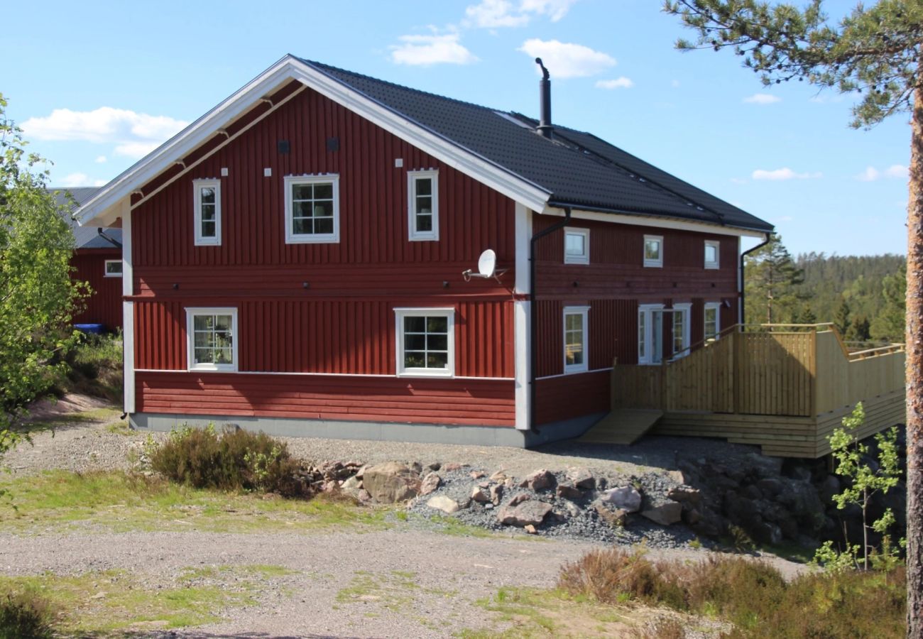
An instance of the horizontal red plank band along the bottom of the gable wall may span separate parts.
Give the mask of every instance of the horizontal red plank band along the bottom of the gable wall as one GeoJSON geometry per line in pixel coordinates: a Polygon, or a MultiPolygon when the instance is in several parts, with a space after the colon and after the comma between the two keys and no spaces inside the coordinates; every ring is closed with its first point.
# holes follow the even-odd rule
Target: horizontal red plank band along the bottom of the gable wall
{"type": "Polygon", "coordinates": [[[513,426],[513,382],[142,372],[138,411],[513,426]]]}

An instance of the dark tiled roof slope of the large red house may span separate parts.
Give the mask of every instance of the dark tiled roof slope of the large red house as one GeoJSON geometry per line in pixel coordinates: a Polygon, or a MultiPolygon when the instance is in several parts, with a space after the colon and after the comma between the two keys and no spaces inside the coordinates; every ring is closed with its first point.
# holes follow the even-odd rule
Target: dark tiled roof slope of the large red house
{"type": "Polygon", "coordinates": [[[302,62],[500,170],[533,183],[550,193],[549,201],[554,204],[757,231],[773,229],[772,224],[590,133],[555,125],[554,138],[546,139],[535,133],[537,123],[524,115],[409,89],[319,62],[302,62]]]}

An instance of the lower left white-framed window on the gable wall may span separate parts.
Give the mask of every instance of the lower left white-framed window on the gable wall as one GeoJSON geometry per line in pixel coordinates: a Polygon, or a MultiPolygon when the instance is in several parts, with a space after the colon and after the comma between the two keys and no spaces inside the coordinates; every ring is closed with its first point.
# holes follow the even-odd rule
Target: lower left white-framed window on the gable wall
{"type": "Polygon", "coordinates": [[[189,370],[237,370],[237,309],[186,308],[189,370]]]}

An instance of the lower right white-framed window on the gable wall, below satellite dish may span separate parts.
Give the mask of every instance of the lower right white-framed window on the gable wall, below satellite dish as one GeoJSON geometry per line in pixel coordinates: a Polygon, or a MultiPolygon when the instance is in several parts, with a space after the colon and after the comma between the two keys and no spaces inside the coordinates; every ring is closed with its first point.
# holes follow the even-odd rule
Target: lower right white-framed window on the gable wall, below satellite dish
{"type": "Polygon", "coordinates": [[[395,308],[399,377],[455,375],[455,309],[395,308]]]}

